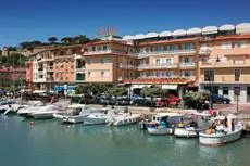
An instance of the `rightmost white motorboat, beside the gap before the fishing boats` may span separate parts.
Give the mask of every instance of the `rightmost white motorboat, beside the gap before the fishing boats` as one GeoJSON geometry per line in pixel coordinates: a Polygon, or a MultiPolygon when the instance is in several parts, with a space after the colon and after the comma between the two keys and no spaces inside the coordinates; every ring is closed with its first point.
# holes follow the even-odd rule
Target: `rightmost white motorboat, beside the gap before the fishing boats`
{"type": "Polygon", "coordinates": [[[140,114],[132,114],[132,113],[122,113],[122,114],[116,114],[114,115],[108,115],[107,123],[109,126],[125,126],[125,125],[132,125],[136,124],[137,120],[140,117],[140,114]]]}

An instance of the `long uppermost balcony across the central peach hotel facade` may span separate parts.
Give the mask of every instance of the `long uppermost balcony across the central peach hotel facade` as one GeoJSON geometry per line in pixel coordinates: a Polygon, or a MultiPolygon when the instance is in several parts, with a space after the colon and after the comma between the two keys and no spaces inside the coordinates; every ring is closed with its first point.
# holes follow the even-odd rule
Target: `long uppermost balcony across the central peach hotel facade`
{"type": "Polygon", "coordinates": [[[179,54],[179,55],[185,55],[185,54],[193,54],[195,55],[196,50],[190,49],[190,50],[172,50],[172,51],[154,51],[154,52],[140,52],[138,53],[138,58],[145,58],[149,55],[174,55],[174,54],[179,54]]]}

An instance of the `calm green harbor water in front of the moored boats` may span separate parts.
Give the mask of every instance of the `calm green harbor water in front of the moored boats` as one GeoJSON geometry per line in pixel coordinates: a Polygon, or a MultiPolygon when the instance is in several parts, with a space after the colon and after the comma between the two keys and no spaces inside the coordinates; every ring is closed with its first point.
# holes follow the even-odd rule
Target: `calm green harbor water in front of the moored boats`
{"type": "Polygon", "coordinates": [[[249,166],[250,136],[210,148],[198,139],[0,115],[1,166],[249,166]]]}

